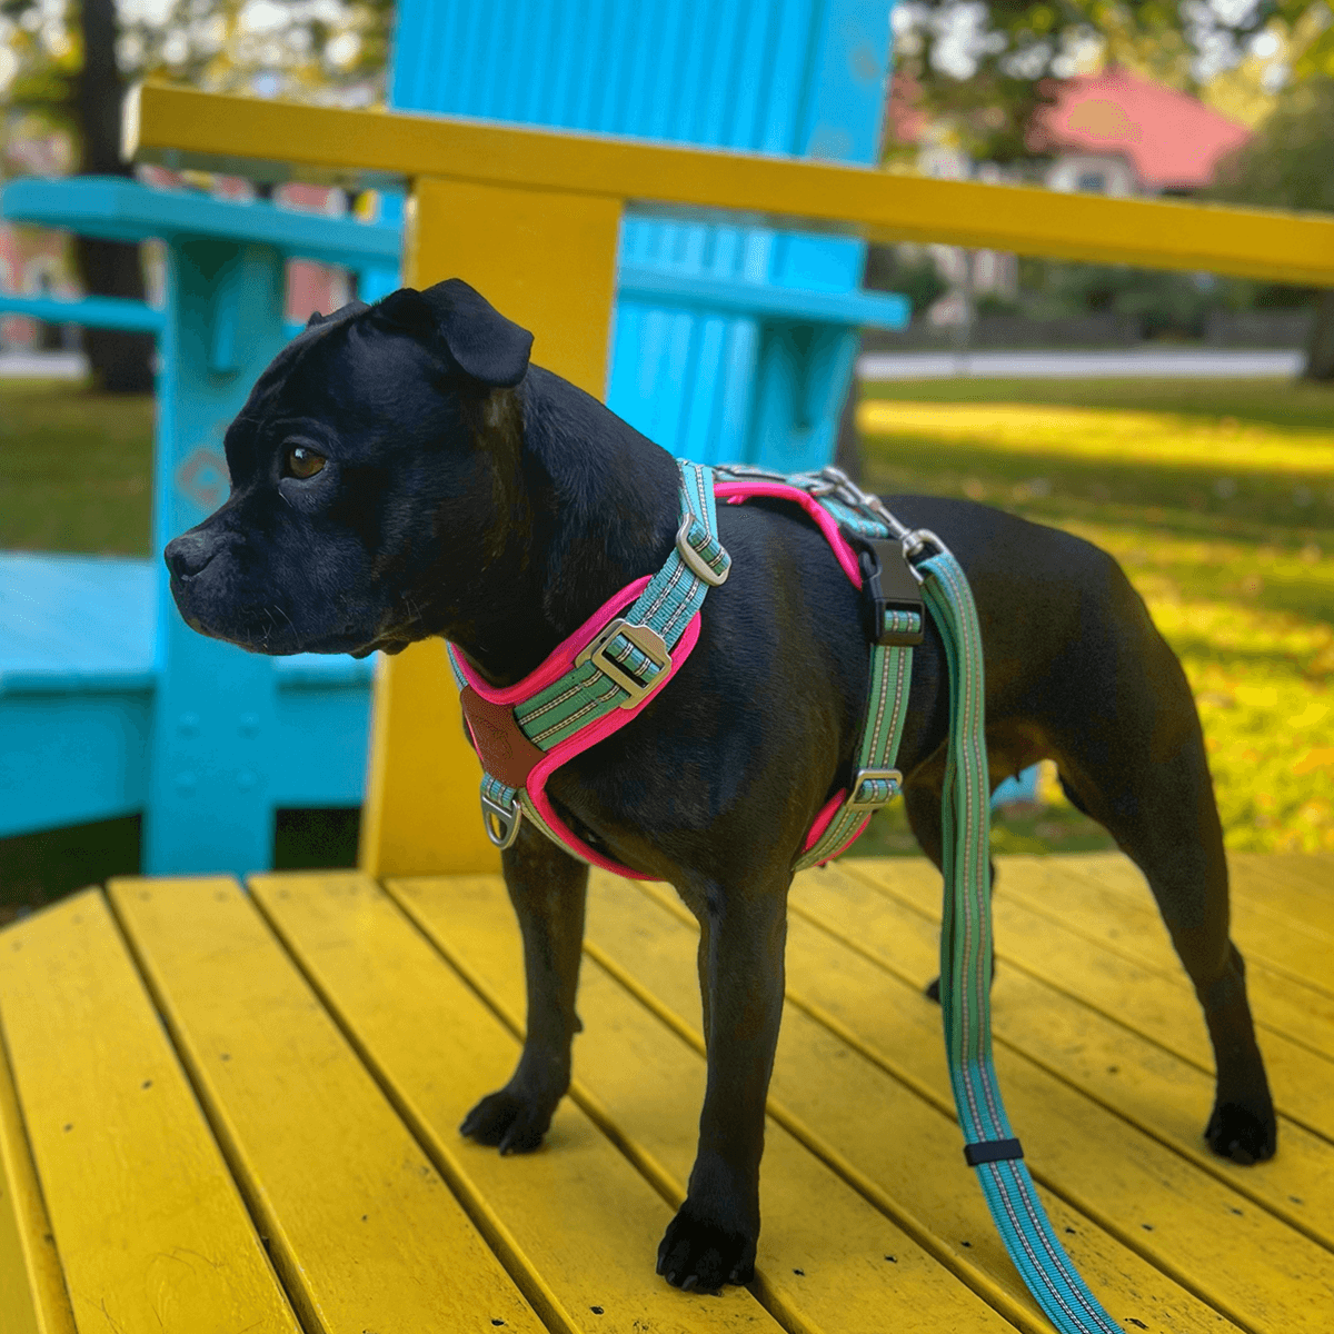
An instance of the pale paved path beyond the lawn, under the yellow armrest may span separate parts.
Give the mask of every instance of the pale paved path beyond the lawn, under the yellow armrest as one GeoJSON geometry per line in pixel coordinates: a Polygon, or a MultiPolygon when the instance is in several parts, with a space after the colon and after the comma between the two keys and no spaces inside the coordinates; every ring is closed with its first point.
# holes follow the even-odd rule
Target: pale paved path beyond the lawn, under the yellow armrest
{"type": "Polygon", "coordinates": [[[1127,352],[867,352],[858,359],[863,380],[1111,379],[1119,376],[1255,375],[1293,376],[1302,368],[1298,351],[1251,352],[1214,348],[1127,352]]]}

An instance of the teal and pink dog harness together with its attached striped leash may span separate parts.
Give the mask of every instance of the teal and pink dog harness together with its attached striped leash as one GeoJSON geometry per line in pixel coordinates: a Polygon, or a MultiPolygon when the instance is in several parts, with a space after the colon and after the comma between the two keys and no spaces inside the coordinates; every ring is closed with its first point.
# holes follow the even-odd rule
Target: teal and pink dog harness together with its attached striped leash
{"type": "Polygon", "coordinates": [[[935,534],[910,531],[838,468],[782,476],[759,468],[679,462],[680,527],[667,563],[623,588],[522,682],[488,686],[454,646],[450,662],[486,776],[487,835],[508,847],[523,819],[576,856],[642,879],[574,835],[546,795],[551,772],[624,727],[671,679],[699,639],[699,608],[727,579],[715,503],[772,496],[819,526],[862,590],[871,688],[847,786],[816,815],[794,870],[846,848],[902,787],[895,770],[923,602],[950,670],[950,739],[940,810],[944,911],[940,1009],[964,1162],[978,1174],[1000,1239],[1029,1291],[1062,1334],[1121,1326],[1070,1263],[1038,1199],[1000,1101],[991,1059],[990,780],[982,634],[963,570],[935,534]]]}

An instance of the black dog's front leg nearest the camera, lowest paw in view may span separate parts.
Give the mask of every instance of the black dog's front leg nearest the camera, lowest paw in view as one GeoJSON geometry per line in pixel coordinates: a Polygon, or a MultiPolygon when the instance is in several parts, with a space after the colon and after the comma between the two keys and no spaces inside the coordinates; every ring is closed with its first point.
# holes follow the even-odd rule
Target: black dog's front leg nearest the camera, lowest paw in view
{"type": "Polygon", "coordinates": [[[787,880],[743,894],[706,884],[682,895],[699,919],[708,1085],[686,1203],[658,1247],[676,1287],[750,1282],[759,1238],[764,1099],[783,1014],[787,880]]]}

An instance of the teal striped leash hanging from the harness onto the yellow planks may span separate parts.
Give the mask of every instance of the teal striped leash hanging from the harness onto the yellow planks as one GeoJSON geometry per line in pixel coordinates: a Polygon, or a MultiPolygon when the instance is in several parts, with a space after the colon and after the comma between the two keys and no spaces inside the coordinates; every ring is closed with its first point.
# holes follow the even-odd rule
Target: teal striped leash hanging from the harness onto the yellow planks
{"type": "Polygon", "coordinates": [[[1000,1102],[991,1062],[991,794],[982,635],[963,570],[942,543],[931,540],[940,554],[923,560],[918,571],[944,642],[951,687],[942,804],[940,1006],[964,1153],[1010,1258],[1051,1323],[1062,1334],[1119,1334],[1121,1326],[1089,1291],[1051,1230],[1000,1102]]]}

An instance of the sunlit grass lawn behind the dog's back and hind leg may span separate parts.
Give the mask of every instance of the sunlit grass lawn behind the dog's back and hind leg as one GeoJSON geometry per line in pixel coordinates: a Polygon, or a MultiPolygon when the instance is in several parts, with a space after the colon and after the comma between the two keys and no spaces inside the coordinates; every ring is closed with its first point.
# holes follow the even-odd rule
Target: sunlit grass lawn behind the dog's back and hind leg
{"type": "MultiPolygon", "coordinates": [[[[1334,390],[911,382],[867,387],[858,424],[874,490],[983,500],[1117,556],[1194,686],[1227,846],[1334,850],[1334,390]]],[[[1087,840],[1043,796],[999,847],[1087,840]]]]}

